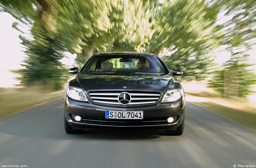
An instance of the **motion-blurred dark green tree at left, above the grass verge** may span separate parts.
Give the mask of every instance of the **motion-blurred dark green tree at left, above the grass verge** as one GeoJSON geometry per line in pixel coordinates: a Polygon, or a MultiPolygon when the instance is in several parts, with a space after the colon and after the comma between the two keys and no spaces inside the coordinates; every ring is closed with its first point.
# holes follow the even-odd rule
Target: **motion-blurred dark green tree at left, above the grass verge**
{"type": "MultiPolygon", "coordinates": [[[[22,22],[31,27],[33,40],[20,36],[26,48],[26,59],[22,66],[25,69],[14,71],[20,74],[21,84],[33,82],[52,83],[58,89],[67,76],[64,73],[60,59],[63,45],[57,38],[56,17],[58,10],[55,0],[26,0],[2,1],[1,10],[9,12],[22,22]]],[[[18,23],[13,27],[18,29],[18,23]]],[[[18,29],[19,30],[19,29],[18,29]]]]}

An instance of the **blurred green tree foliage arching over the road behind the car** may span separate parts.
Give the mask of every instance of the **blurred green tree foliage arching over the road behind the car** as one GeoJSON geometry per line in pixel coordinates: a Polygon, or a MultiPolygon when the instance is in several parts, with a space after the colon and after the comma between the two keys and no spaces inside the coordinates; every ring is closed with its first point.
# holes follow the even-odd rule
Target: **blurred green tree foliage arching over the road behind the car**
{"type": "Polygon", "coordinates": [[[96,52],[150,52],[169,69],[181,69],[183,79],[201,80],[212,72],[221,46],[231,57],[212,73],[210,86],[222,95],[236,86],[241,97],[255,83],[243,62],[256,39],[253,0],[1,0],[0,11],[18,19],[13,28],[31,28],[32,40],[20,36],[27,55],[25,69],[17,71],[22,84],[60,86],[67,78],[60,62],[65,51],[77,54],[79,67],[96,52]],[[223,12],[230,19],[218,24],[223,12]]]}

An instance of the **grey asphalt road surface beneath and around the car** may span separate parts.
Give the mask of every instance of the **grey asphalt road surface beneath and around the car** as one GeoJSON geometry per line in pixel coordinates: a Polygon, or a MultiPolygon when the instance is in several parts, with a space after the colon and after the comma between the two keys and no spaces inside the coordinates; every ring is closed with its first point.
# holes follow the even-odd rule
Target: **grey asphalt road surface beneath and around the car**
{"type": "Polygon", "coordinates": [[[0,120],[0,165],[184,168],[256,165],[256,133],[186,102],[185,131],[85,130],[66,134],[60,99],[0,120]]]}

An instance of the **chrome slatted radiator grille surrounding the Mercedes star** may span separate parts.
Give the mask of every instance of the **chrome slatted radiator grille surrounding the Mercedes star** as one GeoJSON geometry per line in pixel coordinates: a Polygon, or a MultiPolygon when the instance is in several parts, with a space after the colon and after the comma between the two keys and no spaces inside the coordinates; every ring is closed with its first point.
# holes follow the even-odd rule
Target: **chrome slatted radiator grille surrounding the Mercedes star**
{"type": "Polygon", "coordinates": [[[157,102],[160,97],[159,92],[147,92],[147,91],[90,91],[89,95],[92,101],[103,104],[116,104],[116,105],[139,105],[139,104],[151,104],[157,102]],[[128,104],[121,104],[118,101],[118,97],[121,93],[128,93],[131,100],[128,104]]]}

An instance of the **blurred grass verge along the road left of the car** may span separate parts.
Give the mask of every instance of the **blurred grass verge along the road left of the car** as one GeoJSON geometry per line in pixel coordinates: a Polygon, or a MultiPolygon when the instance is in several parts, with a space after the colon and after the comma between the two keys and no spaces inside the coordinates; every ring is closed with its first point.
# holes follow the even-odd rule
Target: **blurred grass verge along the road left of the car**
{"type": "Polygon", "coordinates": [[[0,119],[64,97],[60,91],[46,90],[45,87],[0,88],[0,119]]]}

